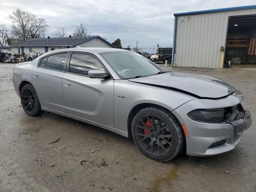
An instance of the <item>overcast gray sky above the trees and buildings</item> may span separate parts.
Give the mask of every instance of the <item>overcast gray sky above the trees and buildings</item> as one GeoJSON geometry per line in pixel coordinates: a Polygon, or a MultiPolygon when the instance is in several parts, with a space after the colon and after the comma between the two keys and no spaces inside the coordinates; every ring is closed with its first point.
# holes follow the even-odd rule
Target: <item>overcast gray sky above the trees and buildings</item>
{"type": "Polygon", "coordinates": [[[51,36],[65,26],[72,35],[81,22],[90,35],[106,37],[110,43],[120,38],[123,47],[171,47],[174,13],[246,6],[255,0],[2,0],[0,24],[12,25],[8,15],[16,8],[45,18],[51,36]]]}

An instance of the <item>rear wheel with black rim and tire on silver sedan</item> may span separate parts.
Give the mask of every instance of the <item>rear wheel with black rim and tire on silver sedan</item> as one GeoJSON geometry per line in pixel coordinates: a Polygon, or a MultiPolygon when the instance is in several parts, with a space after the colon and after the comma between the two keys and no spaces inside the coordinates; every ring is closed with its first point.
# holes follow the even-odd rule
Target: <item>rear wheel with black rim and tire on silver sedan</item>
{"type": "Polygon", "coordinates": [[[22,87],[20,92],[20,101],[23,110],[29,116],[38,116],[44,112],[41,109],[36,90],[31,84],[26,84],[22,87]]]}

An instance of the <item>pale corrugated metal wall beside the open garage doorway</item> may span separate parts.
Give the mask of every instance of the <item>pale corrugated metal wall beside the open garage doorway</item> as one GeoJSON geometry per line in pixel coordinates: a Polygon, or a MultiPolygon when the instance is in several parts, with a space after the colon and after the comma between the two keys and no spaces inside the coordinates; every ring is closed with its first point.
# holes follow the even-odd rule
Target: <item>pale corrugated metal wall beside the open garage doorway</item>
{"type": "Polygon", "coordinates": [[[178,16],[176,66],[220,68],[220,47],[226,45],[228,17],[250,14],[256,14],[256,9],[178,16]]]}

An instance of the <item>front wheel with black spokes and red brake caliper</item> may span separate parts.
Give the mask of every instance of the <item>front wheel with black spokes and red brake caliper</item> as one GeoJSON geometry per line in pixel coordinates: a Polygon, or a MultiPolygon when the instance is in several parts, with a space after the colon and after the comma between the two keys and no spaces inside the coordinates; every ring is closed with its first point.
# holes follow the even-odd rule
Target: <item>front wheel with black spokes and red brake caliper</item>
{"type": "Polygon", "coordinates": [[[159,162],[175,158],[185,144],[182,128],[176,118],[167,110],[155,106],[146,107],[134,116],[132,137],[144,155],[159,162]],[[148,121],[150,121],[150,127],[147,125],[144,129],[148,121]]]}

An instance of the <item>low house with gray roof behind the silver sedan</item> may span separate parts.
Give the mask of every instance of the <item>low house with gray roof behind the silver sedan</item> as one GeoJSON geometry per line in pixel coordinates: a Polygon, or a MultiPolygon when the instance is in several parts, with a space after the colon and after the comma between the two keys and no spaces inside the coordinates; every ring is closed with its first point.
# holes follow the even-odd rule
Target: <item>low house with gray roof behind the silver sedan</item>
{"type": "Polygon", "coordinates": [[[14,52],[24,54],[34,54],[34,52],[46,53],[56,49],[72,47],[116,48],[100,36],[72,37],[71,35],[69,37],[35,38],[12,44],[10,47],[12,48],[12,54],[14,54],[14,52]]]}

